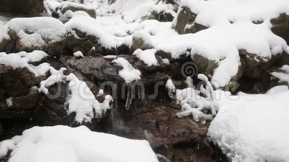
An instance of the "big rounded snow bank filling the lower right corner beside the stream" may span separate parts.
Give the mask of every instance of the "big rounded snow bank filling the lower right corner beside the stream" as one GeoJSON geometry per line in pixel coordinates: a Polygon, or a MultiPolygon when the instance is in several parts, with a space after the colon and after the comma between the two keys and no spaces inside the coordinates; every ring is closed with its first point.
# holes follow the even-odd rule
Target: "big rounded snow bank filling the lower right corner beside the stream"
{"type": "Polygon", "coordinates": [[[275,95],[239,93],[238,100],[222,105],[208,136],[233,162],[286,162],[288,96],[289,91],[275,95]]]}

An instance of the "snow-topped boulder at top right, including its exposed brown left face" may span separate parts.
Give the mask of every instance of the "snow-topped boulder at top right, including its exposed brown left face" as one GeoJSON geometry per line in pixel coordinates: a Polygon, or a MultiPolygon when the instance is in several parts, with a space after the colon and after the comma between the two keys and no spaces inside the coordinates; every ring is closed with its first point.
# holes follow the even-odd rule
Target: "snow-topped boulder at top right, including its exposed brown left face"
{"type": "Polygon", "coordinates": [[[287,0],[182,0],[173,26],[180,34],[238,21],[266,22],[270,26],[272,18],[286,12],[287,0]]]}

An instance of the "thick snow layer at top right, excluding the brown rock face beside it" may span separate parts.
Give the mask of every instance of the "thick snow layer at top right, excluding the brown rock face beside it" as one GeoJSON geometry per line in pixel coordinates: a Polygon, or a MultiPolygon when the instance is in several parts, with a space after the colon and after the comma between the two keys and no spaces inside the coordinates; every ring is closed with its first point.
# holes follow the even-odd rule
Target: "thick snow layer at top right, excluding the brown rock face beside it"
{"type": "Polygon", "coordinates": [[[197,14],[195,22],[205,26],[230,21],[268,21],[279,13],[289,14],[288,0],[182,0],[181,6],[188,6],[197,14]]]}

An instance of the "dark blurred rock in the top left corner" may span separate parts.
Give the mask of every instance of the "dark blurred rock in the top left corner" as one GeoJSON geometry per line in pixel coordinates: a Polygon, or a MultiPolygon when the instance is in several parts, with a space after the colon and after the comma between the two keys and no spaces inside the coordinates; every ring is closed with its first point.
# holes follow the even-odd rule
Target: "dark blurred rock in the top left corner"
{"type": "Polygon", "coordinates": [[[1,0],[0,12],[36,15],[44,11],[43,0],[1,0]]]}

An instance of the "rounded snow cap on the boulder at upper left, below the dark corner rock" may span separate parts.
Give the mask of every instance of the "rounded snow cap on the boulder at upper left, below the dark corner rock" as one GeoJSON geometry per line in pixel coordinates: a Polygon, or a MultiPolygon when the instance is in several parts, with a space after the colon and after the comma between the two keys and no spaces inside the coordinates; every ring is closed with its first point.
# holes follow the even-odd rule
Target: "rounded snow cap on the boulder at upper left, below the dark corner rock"
{"type": "Polygon", "coordinates": [[[8,31],[15,32],[26,47],[62,41],[66,35],[63,23],[52,17],[13,18],[2,28],[0,41],[10,39],[8,31]]]}

